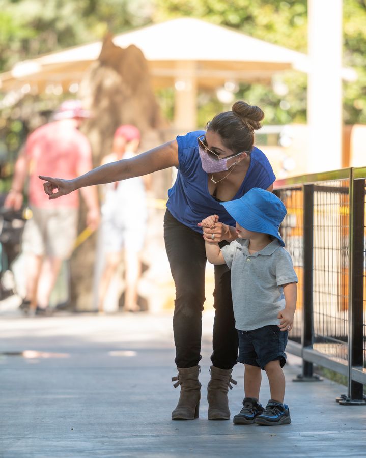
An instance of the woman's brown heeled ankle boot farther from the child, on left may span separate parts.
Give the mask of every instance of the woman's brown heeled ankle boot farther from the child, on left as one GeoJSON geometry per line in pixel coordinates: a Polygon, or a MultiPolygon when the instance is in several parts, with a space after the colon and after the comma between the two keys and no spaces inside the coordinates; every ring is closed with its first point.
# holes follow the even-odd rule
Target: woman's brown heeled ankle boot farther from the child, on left
{"type": "Polygon", "coordinates": [[[200,366],[181,369],[177,367],[178,376],[172,377],[177,382],[174,388],[181,386],[181,393],[177,407],[172,412],[172,420],[194,420],[199,417],[201,383],[198,380],[200,366]]]}

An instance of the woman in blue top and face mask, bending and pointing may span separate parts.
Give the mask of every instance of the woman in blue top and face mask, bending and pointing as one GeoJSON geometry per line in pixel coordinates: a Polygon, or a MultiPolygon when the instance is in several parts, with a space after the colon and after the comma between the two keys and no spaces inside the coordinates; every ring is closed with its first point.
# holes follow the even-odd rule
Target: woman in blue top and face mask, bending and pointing
{"type": "MultiPolygon", "coordinates": [[[[74,180],[40,177],[46,181],[46,194],[54,199],[84,186],[125,180],[172,166],[178,168],[177,180],[168,191],[164,217],[165,247],[176,285],[173,329],[178,377],[173,380],[177,380],[175,387],[181,385],[173,420],[199,416],[205,240],[227,244],[236,238],[235,222],[220,202],[240,198],[254,187],[272,191],[272,167],[262,151],[253,146],[254,130],[261,127],[263,118],[259,107],[238,101],[232,111],[216,115],[206,132],[178,136],[133,159],[103,165],[74,180]],[[57,192],[53,193],[55,189],[57,192]],[[214,228],[202,227],[199,221],[212,214],[217,214],[220,222],[214,228]]],[[[238,337],[230,271],[225,265],[215,266],[214,308],[208,418],[228,420],[228,389],[237,362],[238,337]]]]}

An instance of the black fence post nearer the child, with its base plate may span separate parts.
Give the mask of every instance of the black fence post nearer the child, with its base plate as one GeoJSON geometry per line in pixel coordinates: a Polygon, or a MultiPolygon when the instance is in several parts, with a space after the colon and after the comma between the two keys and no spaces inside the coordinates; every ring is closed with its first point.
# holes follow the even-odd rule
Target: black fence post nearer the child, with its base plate
{"type": "MultiPolygon", "coordinates": [[[[303,185],[303,308],[301,346],[313,347],[313,247],[314,247],[314,185],[303,185]]],[[[302,360],[302,374],[294,382],[319,382],[322,379],[313,374],[313,363],[302,360]]]]}

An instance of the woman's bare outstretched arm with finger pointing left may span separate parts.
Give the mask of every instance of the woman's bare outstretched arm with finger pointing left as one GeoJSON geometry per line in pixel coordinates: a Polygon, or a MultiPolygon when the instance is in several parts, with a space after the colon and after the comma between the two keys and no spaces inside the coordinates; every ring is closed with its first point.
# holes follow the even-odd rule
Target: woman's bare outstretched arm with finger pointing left
{"type": "Polygon", "coordinates": [[[134,158],[101,165],[73,180],[44,176],[39,178],[46,181],[43,187],[49,199],[55,199],[86,186],[126,180],[178,165],[178,144],[173,140],[134,158]],[[55,189],[58,191],[53,193],[55,189]]]}

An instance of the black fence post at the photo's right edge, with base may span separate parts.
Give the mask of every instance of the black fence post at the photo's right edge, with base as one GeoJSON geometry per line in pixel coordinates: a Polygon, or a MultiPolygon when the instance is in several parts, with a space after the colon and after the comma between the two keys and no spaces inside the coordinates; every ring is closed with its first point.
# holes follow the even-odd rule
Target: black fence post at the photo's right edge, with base
{"type": "Polygon", "coordinates": [[[351,169],[349,196],[348,390],[337,398],[342,405],[366,405],[363,384],[352,380],[352,368],[363,365],[363,269],[365,180],[351,169]]]}

